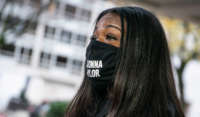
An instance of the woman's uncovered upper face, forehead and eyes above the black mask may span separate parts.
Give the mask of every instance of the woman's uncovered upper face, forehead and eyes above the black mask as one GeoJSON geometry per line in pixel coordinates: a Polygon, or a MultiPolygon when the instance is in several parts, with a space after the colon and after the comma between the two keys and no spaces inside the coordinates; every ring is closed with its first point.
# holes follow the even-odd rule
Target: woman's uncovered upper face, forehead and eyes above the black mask
{"type": "Polygon", "coordinates": [[[93,36],[97,38],[97,41],[120,47],[121,20],[119,15],[105,14],[97,22],[93,36]]]}

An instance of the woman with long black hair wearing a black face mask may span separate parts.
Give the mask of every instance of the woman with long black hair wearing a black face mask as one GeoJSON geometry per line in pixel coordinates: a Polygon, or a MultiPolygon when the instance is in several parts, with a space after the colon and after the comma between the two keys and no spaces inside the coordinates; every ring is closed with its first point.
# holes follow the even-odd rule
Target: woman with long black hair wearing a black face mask
{"type": "Polygon", "coordinates": [[[66,117],[184,117],[164,30],[139,7],[103,11],[66,117]]]}

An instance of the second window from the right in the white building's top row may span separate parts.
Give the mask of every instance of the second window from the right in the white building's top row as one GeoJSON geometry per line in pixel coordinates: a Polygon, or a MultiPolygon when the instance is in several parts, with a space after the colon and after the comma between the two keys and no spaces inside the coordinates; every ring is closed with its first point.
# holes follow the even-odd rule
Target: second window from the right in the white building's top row
{"type": "Polygon", "coordinates": [[[66,15],[68,18],[74,18],[74,17],[75,17],[75,14],[76,14],[76,7],[73,6],[73,5],[67,4],[67,5],[65,6],[65,15],[66,15]]]}

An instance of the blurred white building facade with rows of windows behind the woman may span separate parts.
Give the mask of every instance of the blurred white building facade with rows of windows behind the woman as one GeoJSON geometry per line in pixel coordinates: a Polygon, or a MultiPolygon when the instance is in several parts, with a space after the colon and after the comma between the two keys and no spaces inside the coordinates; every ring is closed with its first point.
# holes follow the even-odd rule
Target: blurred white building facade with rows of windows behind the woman
{"type": "MultiPolygon", "coordinates": [[[[1,50],[0,80],[30,77],[26,97],[33,104],[44,100],[71,100],[83,79],[85,50],[95,18],[101,10],[112,6],[101,0],[57,0],[32,23],[30,31],[19,37],[12,33],[6,36],[6,41],[14,43],[15,49],[13,53],[1,50]]],[[[7,5],[2,16],[26,20],[33,9],[31,0],[16,2],[7,5]]],[[[2,23],[0,26],[2,30],[2,23]]],[[[8,81],[8,85],[15,84],[8,81]]],[[[23,86],[22,83],[18,89],[23,86]]],[[[3,89],[0,93],[9,91],[3,89]]]]}

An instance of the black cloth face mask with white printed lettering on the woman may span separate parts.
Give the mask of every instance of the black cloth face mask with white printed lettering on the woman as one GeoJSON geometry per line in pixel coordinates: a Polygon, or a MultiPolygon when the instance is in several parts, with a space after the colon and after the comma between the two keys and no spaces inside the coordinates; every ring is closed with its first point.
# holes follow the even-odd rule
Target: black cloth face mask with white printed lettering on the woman
{"type": "Polygon", "coordinates": [[[119,48],[91,40],[86,51],[85,75],[94,91],[106,93],[112,86],[118,61],[119,48]]]}

